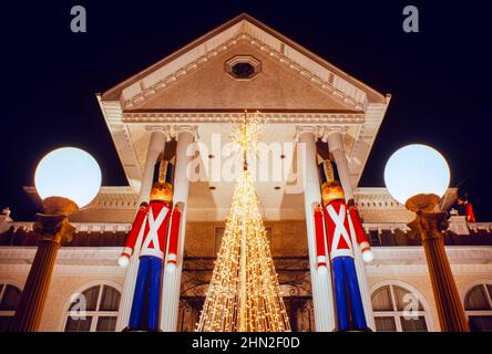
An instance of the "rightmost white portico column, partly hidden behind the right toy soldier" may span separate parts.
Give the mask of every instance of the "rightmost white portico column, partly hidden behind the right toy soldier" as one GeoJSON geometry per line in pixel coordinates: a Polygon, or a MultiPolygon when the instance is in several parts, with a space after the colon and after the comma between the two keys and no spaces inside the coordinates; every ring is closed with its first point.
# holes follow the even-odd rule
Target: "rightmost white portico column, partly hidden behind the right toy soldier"
{"type": "MultiPolygon", "coordinates": [[[[340,127],[331,127],[325,134],[322,140],[328,143],[328,148],[334,156],[337,164],[338,177],[340,178],[341,187],[344,188],[345,198],[347,201],[353,199],[353,188],[350,181],[350,170],[348,165],[347,155],[344,148],[344,131],[340,127]]],[[[353,236],[353,235],[352,235],[353,236]]],[[[352,238],[355,263],[357,270],[357,279],[359,281],[360,295],[362,298],[363,312],[366,314],[367,325],[375,330],[375,320],[372,314],[371,294],[369,292],[369,283],[367,281],[366,263],[362,260],[362,252],[357,243],[357,240],[352,238]]]]}

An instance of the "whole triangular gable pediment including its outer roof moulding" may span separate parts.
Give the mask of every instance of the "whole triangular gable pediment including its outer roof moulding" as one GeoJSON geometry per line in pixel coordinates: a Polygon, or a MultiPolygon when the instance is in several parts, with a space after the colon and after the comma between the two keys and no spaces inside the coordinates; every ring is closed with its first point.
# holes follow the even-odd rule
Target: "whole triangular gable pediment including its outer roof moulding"
{"type": "Polygon", "coordinates": [[[385,96],[336,66],[240,14],[178,52],[109,90],[102,101],[134,110],[310,110],[361,112],[385,96]],[[253,55],[249,81],[226,73],[226,61],[253,55]]]}

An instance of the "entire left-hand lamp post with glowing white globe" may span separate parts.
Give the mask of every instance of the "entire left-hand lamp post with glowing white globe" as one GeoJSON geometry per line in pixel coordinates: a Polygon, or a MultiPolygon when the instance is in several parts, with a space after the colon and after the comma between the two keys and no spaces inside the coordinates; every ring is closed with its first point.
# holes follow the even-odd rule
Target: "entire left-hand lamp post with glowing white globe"
{"type": "Polygon", "coordinates": [[[10,327],[13,332],[38,330],[58,250],[74,231],[68,216],[98,195],[101,170],[95,159],[84,150],[62,147],[41,159],[34,185],[42,198],[43,214],[35,215],[33,228],[41,238],[10,327]]]}

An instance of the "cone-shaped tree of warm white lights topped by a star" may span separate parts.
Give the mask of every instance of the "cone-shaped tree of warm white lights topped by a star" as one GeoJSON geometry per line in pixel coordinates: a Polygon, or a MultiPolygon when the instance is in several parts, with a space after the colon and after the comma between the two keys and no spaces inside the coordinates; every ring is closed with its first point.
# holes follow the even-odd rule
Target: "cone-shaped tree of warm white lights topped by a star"
{"type": "Polygon", "coordinates": [[[258,209],[246,156],[259,138],[256,122],[238,126],[233,139],[245,156],[197,331],[290,331],[278,275],[258,209]]]}

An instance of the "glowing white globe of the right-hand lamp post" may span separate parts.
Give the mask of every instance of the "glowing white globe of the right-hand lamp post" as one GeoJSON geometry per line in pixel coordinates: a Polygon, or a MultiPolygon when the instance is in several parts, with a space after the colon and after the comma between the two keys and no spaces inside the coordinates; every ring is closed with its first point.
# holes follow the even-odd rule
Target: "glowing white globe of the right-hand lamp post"
{"type": "Polygon", "coordinates": [[[416,199],[412,199],[416,196],[428,196],[427,201],[434,207],[445,194],[449,183],[448,163],[438,150],[427,145],[413,144],[398,149],[385,168],[388,191],[411,210],[416,207],[416,199]]]}

